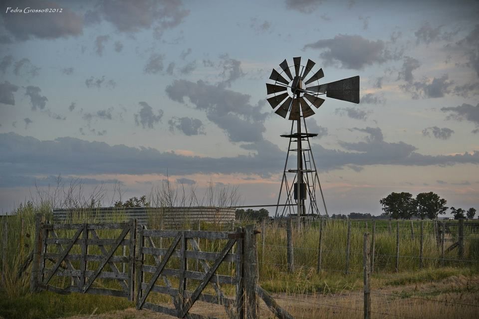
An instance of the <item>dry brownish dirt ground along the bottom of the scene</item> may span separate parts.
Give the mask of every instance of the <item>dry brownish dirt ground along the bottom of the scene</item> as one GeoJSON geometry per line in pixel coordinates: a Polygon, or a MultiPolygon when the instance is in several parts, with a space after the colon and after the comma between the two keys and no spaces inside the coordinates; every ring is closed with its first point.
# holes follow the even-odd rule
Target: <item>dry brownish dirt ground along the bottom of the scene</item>
{"type": "MultiPolygon", "coordinates": [[[[274,294],[276,302],[294,318],[363,318],[363,292],[333,295],[274,294]]],[[[372,318],[478,318],[479,277],[452,276],[445,280],[371,290],[372,318]]],[[[171,307],[171,305],[170,305],[171,307]]],[[[223,306],[198,302],[192,313],[228,318],[223,306]]],[[[173,319],[149,310],[127,309],[68,319],[173,319]]],[[[259,318],[274,318],[262,301],[259,318]]]]}

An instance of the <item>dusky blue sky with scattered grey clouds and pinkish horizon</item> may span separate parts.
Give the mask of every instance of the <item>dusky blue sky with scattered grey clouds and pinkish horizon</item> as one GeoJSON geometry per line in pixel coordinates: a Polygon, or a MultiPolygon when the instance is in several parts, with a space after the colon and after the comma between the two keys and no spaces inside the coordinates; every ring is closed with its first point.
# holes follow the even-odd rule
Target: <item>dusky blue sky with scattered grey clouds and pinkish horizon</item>
{"type": "Polygon", "coordinates": [[[378,215],[391,192],[479,209],[479,1],[2,0],[0,11],[1,211],[58,176],[101,186],[104,205],[115,187],[139,197],[166,180],[276,204],[291,121],[265,83],[296,56],[322,67],[321,83],[361,79],[359,104],[326,98],[306,122],[329,214],[378,215]]]}

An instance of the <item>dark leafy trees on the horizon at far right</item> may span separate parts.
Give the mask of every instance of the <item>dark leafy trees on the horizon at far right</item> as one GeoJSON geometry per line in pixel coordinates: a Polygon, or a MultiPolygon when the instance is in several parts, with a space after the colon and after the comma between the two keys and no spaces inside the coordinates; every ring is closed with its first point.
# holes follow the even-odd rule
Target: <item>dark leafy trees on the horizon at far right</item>
{"type": "Polygon", "coordinates": [[[451,210],[455,219],[473,219],[476,209],[470,208],[467,212],[462,208],[447,207],[447,201],[433,192],[420,193],[413,197],[411,193],[391,193],[379,201],[383,206],[383,216],[393,219],[437,219],[439,215],[451,210]],[[466,214],[465,214],[466,213],[466,214]]]}

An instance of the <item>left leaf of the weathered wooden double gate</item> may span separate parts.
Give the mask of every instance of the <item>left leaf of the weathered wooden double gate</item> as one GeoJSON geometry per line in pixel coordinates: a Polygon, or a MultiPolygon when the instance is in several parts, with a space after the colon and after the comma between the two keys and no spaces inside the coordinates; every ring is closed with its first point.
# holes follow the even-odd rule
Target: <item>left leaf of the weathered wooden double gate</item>
{"type": "Polygon", "coordinates": [[[135,221],[117,224],[37,223],[32,290],[133,300],[135,221]]]}

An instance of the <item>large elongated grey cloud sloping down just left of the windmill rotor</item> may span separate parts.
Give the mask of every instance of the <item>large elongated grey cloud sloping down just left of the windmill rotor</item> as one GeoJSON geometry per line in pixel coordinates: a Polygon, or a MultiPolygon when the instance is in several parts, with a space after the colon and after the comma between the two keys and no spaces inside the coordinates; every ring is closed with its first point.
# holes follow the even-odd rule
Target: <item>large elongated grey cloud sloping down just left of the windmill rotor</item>
{"type": "Polygon", "coordinates": [[[250,96],[202,80],[191,82],[175,80],[166,87],[172,100],[186,104],[188,98],[207,118],[227,132],[232,142],[262,140],[264,119],[269,113],[261,113],[261,105],[249,104],[250,96]]]}

